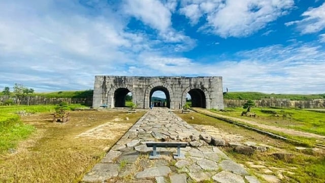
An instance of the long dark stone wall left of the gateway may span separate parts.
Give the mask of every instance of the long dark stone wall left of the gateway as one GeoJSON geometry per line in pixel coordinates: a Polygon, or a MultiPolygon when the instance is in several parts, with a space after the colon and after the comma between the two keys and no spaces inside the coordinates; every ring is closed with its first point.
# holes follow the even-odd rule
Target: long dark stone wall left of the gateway
{"type": "MultiPolygon", "coordinates": [[[[9,99],[9,96],[1,96],[0,104],[5,103],[9,99]]],[[[10,97],[17,104],[17,100],[14,97],[10,97]]],[[[60,102],[67,102],[69,104],[85,104],[86,106],[92,106],[92,97],[89,98],[46,98],[46,97],[30,97],[29,105],[56,105],[60,102]]],[[[27,105],[27,97],[21,100],[20,105],[27,105]]]]}

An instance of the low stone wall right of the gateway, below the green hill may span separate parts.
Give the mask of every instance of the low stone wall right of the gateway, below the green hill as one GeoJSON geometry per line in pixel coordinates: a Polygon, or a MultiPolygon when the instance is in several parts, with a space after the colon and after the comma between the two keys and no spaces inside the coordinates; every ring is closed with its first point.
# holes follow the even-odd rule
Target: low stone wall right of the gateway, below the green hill
{"type": "MultiPolygon", "coordinates": [[[[247,100],[223,100],[225,107],[242,107],[247,100]]],[[[303,108],[325,108],[325,99],[314,99],[306,101],[291,101],[289,99],[261,99],[255,100],[256,107],[303,107],[303,108]]]]}

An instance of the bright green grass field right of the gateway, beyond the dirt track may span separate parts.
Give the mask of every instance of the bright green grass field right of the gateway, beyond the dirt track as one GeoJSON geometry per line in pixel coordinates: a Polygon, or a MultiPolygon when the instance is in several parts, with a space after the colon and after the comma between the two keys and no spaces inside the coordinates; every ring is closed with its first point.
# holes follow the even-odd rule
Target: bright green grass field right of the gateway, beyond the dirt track
{"type": "MultiPolygon", "coordinates": [[[[241,116],[242,111],[246,109],[237,107],[226,108],[225,110],[227,112],[212,111],[223,115],[248,119],[246,116],[241,116]]],[[[325,113],[287,108],[251,108],[251,111],[255,112],[257,117],[249,119],[261,124],[325,135],[325,113]]]]}

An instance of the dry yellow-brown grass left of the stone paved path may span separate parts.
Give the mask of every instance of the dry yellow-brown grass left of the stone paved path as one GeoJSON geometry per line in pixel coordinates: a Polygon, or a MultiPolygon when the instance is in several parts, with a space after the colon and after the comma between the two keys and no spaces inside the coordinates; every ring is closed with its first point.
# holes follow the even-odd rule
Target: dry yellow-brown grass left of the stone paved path
{"type": "Polygon", "coordinates": [[[20,143],[16,153],[1,155],[0,182],[78,182],[143,114],[76,111],[67,124],[51,123],[49,113],[24,117],[24,123],[35,126],[37,132],[20,143]],[[75,138],[110,121],[121,127],[108,131],[110,138],[75,138]]]}

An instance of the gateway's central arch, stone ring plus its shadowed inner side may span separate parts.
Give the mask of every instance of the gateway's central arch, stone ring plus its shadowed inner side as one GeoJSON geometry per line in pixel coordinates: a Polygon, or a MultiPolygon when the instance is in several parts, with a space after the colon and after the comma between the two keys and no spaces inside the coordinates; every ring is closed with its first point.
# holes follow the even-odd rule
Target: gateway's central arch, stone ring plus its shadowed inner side
{"type": "Polygon", "coordinates": [[[145,95],[144,95],[144,106],[143,108],[149,108],[150,107],[150,102],[151,102],[151,96],[152,94],[160,90],[165,93],[166,95],[166,101],[167,101],[167,107],[168,108],[173,108],[173,103],[171,101],[174,101],[174,92],[172,88],[164,82],[155,82],[151,83],[145,90],[145,95]]]}

